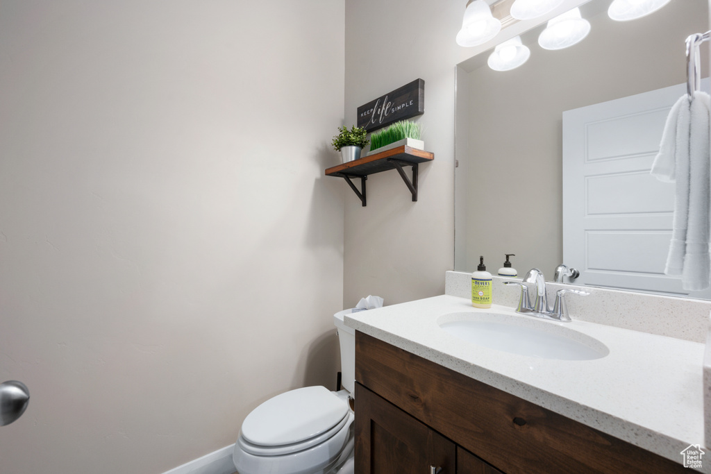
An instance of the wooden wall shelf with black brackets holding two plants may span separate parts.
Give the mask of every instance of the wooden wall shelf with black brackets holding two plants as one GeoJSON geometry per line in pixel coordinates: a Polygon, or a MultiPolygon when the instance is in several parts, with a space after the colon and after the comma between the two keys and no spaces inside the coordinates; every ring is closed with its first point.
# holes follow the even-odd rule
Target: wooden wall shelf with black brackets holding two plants
{"type": "Polygon", "coordinates": [[[333,166],[326,170],[326,176],[336,176],[346,180],[351,189],[358,196],[360,202],[365,206],[365,180],[369,174],[380,173],[381,171],[397,170],[405,181],[405,185],[412,193],[412,200],[417,201],[417,170],[419,163],[427,163],[434,160],[434,153],[429,151],[414,149],[407,145],[397,148],[373,153],[363,156],[358,160],[349,161],[342,165],[333,166]],[[407,178],[403,166],[412,166],[412,181],[407,178]],[[360,178],[360,190],[355,187],[351,178],[360,178]]]}

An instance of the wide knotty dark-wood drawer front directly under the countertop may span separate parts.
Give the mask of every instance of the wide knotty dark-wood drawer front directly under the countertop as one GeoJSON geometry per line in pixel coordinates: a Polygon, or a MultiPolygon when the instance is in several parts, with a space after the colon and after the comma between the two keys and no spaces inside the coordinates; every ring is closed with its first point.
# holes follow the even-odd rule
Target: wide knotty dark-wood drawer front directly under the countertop
{"type": "Polygon", "coordinates": [[[679,463],[360,332],[355,334],[355,379],[508,474],[688,472],[679,463]]]}

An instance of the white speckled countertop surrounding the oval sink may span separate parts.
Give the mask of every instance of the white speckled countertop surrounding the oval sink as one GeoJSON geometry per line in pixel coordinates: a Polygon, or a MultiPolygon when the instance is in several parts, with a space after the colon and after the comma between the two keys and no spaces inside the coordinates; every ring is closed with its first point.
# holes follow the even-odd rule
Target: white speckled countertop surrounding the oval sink
{"type": "MultiPolygon", "coordinates": [[[[703,344],[536,318],[589,335],[609,349],[594,360],[543,359],[467,343],[439,328],[439,318],[463,312],[533,318],[506,306],[473,308],[467,298],[444,295],[348,314],[345,323],[678,463],[690,444],[703,446],[703,344]]],[[[711,473],[711,459],[703,464],[702,472],[711,473]]]]}

